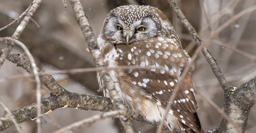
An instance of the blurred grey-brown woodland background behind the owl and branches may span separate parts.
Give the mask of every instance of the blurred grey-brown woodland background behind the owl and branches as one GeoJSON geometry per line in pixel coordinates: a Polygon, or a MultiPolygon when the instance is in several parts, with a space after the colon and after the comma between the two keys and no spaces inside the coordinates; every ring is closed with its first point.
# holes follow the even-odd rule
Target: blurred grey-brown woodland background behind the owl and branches
{"type": "MultiPolygon", "coordinates": [[[[0,0],[0,27],[9,24],[10,18],[16,18],[23,13],[32,0],[0,0]]],[[[180,20],[172,12],[166,0],[81,0],[84,11],[95,36],[100,33],[107,13],[121,5],[139,4],[151,5],[162,10],[173,23],[183,48],[190,54],[196,49],[195,43],[187,33],[180,20]]],[[[59,70],[67,68],[94,67],[91,55],[86,50],[88,47],[78,26],[69,1],[64,8],[61,0],[43,1],[33,18],[40,28],[30,22],[21,34],[22,41],[31,51],[38,66],[44,70],[59,70]]],[[[188,21],[194,26],[202,40],[233,15],[256,4],[256,0],[176,0],[188,21]]],[[[20,20],[21,21],[21,20],[20,20]]],[[[256,75],[256,13],[244,15],[236,23],[230,25],[208,47],[212,56],[217,60],[222,72],[232,86],[241,85],[243,82],[256,75]]],[[[11,36],[18,24],[0,31],[0,37],[11,36]]],[[[0,43],[0,48],[5,45],[0,43]]],[[[14,47],[14,52],[25,56],[24,52],[14,47]]],[[[5,61],[0,68],[0,78],[8,75],[26,73],[15,64],[5,61]]],[[[210,66],[199,55],[196,69],[193,72],[196,87],[210,97],[220,107],[223,106],[223,91],[215,78],[210,66]]],[[[98,84],[95,72],[82,74],[62,74],[53,77],[67,90],[93,95],[102,95],[97,92],[98,84]]],[[[35,81],[33,78],[24,78],[0,82],[0,98],[10,110],[30,105],[36,101],[35,81]]],[[[49,91],[42,86],[43,97],[49,96],[49,91]]],[[[205,130],[212,130],[219,125],[220,115],[208,105],[199,95],[197,96],[200,110],[199,117],[205,130]]],[[[63,126],[78,120],[98,114],[98,111],[85,111],[75,108],[59,108],[49,115],[43,116],[42,132],[50,133],[63,126]]],[[[6,114],[0,107],[0,116],[6,114]]],[[[154,126],[133,120],[136,132],[153,133],[154,126]]],[[[246,133],[256,132],[256,107],[250,111],[246,133]]],[[[35,133],[35,120],[28,120],[19,124],[25,133],[35,133]]],[[[11,127],[3,133],[14,133],[11,127]]],[[[112,118],[98,121],[92,125],[80,128],[74,133],[122,133],[119,120],[112,118]]]]}

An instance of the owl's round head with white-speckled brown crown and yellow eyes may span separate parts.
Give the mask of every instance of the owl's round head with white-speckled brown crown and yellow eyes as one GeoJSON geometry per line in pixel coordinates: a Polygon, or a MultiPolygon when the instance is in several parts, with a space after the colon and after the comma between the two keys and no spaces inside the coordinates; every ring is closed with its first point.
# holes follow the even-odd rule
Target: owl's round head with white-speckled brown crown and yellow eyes
{"type": "Polygon", "coordinates": [[[130,44],[174,32],[172,24],[157,8],[126,5],[113,9],[106,17],[100,38],[113,44],[130,44]]]}

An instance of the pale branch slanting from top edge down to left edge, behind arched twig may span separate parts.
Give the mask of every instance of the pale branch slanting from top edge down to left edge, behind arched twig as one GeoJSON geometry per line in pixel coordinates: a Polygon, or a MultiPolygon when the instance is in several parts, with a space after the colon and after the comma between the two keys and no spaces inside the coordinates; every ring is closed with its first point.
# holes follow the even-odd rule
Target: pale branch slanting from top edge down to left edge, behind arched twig
{"type": "MultiPolygon", "coordinates": [[[[31,6],[29,6],[29,10],[28,10],[26,16],[20,22],[20,25],[16,28],[15,32],[12,35],[12,38],[18,39],[20,37],[20,34],[23,32],[25,27],[28,25],[30,18],[34,15],[35,11],[38,9],[38,7],[40,6],[41,3],[42,3],[42,0],[34,0],[32,2],[31,6]]],[[[13,46],[11,44],[7,44],[7,46],[5,47],[4,52],[3,52],[2,56],[0,57],[0,68],[4,63],[5,58],[10,54],[12,47],[13,46]]]]}

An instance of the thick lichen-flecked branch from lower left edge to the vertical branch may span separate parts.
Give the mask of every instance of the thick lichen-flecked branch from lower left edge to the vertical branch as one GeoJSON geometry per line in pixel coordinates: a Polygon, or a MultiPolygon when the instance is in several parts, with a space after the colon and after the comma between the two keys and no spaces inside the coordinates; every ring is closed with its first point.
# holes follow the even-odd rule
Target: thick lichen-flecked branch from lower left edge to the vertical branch
{"type": "MultiPolygon", "coordinates": [[[[68,105],[67,107],[79,108],[83,110],[95,110],[102,112],[107,112],[113,110],[114,108],[111,100],[107,97],[72,92],[67,92],[65,95],[59,97],[49,96],[41,102],[42,114],[48,112],[49,110],[55,110],[57,108],[64,107],[64,105],[68,105]]],[[[12,114],[17,123],[35,118],[37,116],[36,103],[17,109],[13,111],[12,114]]],[[[3,131],[11,126],[13,126],[13,123],[8,114],[0,118],[0,131],[3,131]]]]}

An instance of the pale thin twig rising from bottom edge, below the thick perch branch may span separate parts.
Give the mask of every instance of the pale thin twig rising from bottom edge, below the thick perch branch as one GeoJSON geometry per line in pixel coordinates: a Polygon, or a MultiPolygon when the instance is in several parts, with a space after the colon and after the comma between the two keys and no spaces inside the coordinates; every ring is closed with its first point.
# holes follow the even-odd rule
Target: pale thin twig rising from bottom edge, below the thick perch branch
{"type": "Polygon", "coordinates": [[[78,122],[72,123],[68,126],[65,126],[53,133],[67,133],[69,130],[74,130],[77,129],[79,127],[82,127],[86,124],[92,124],[98,120],[102,120],[108,117],[117,117],[117,116],[121,116],[126,112],[126,110],[113,110],[113,111],[109,111],[109,112],[105,112],[105,113],[101,113],[98,115],[94,115],[92,117],[80,120],[78,122]]]}

